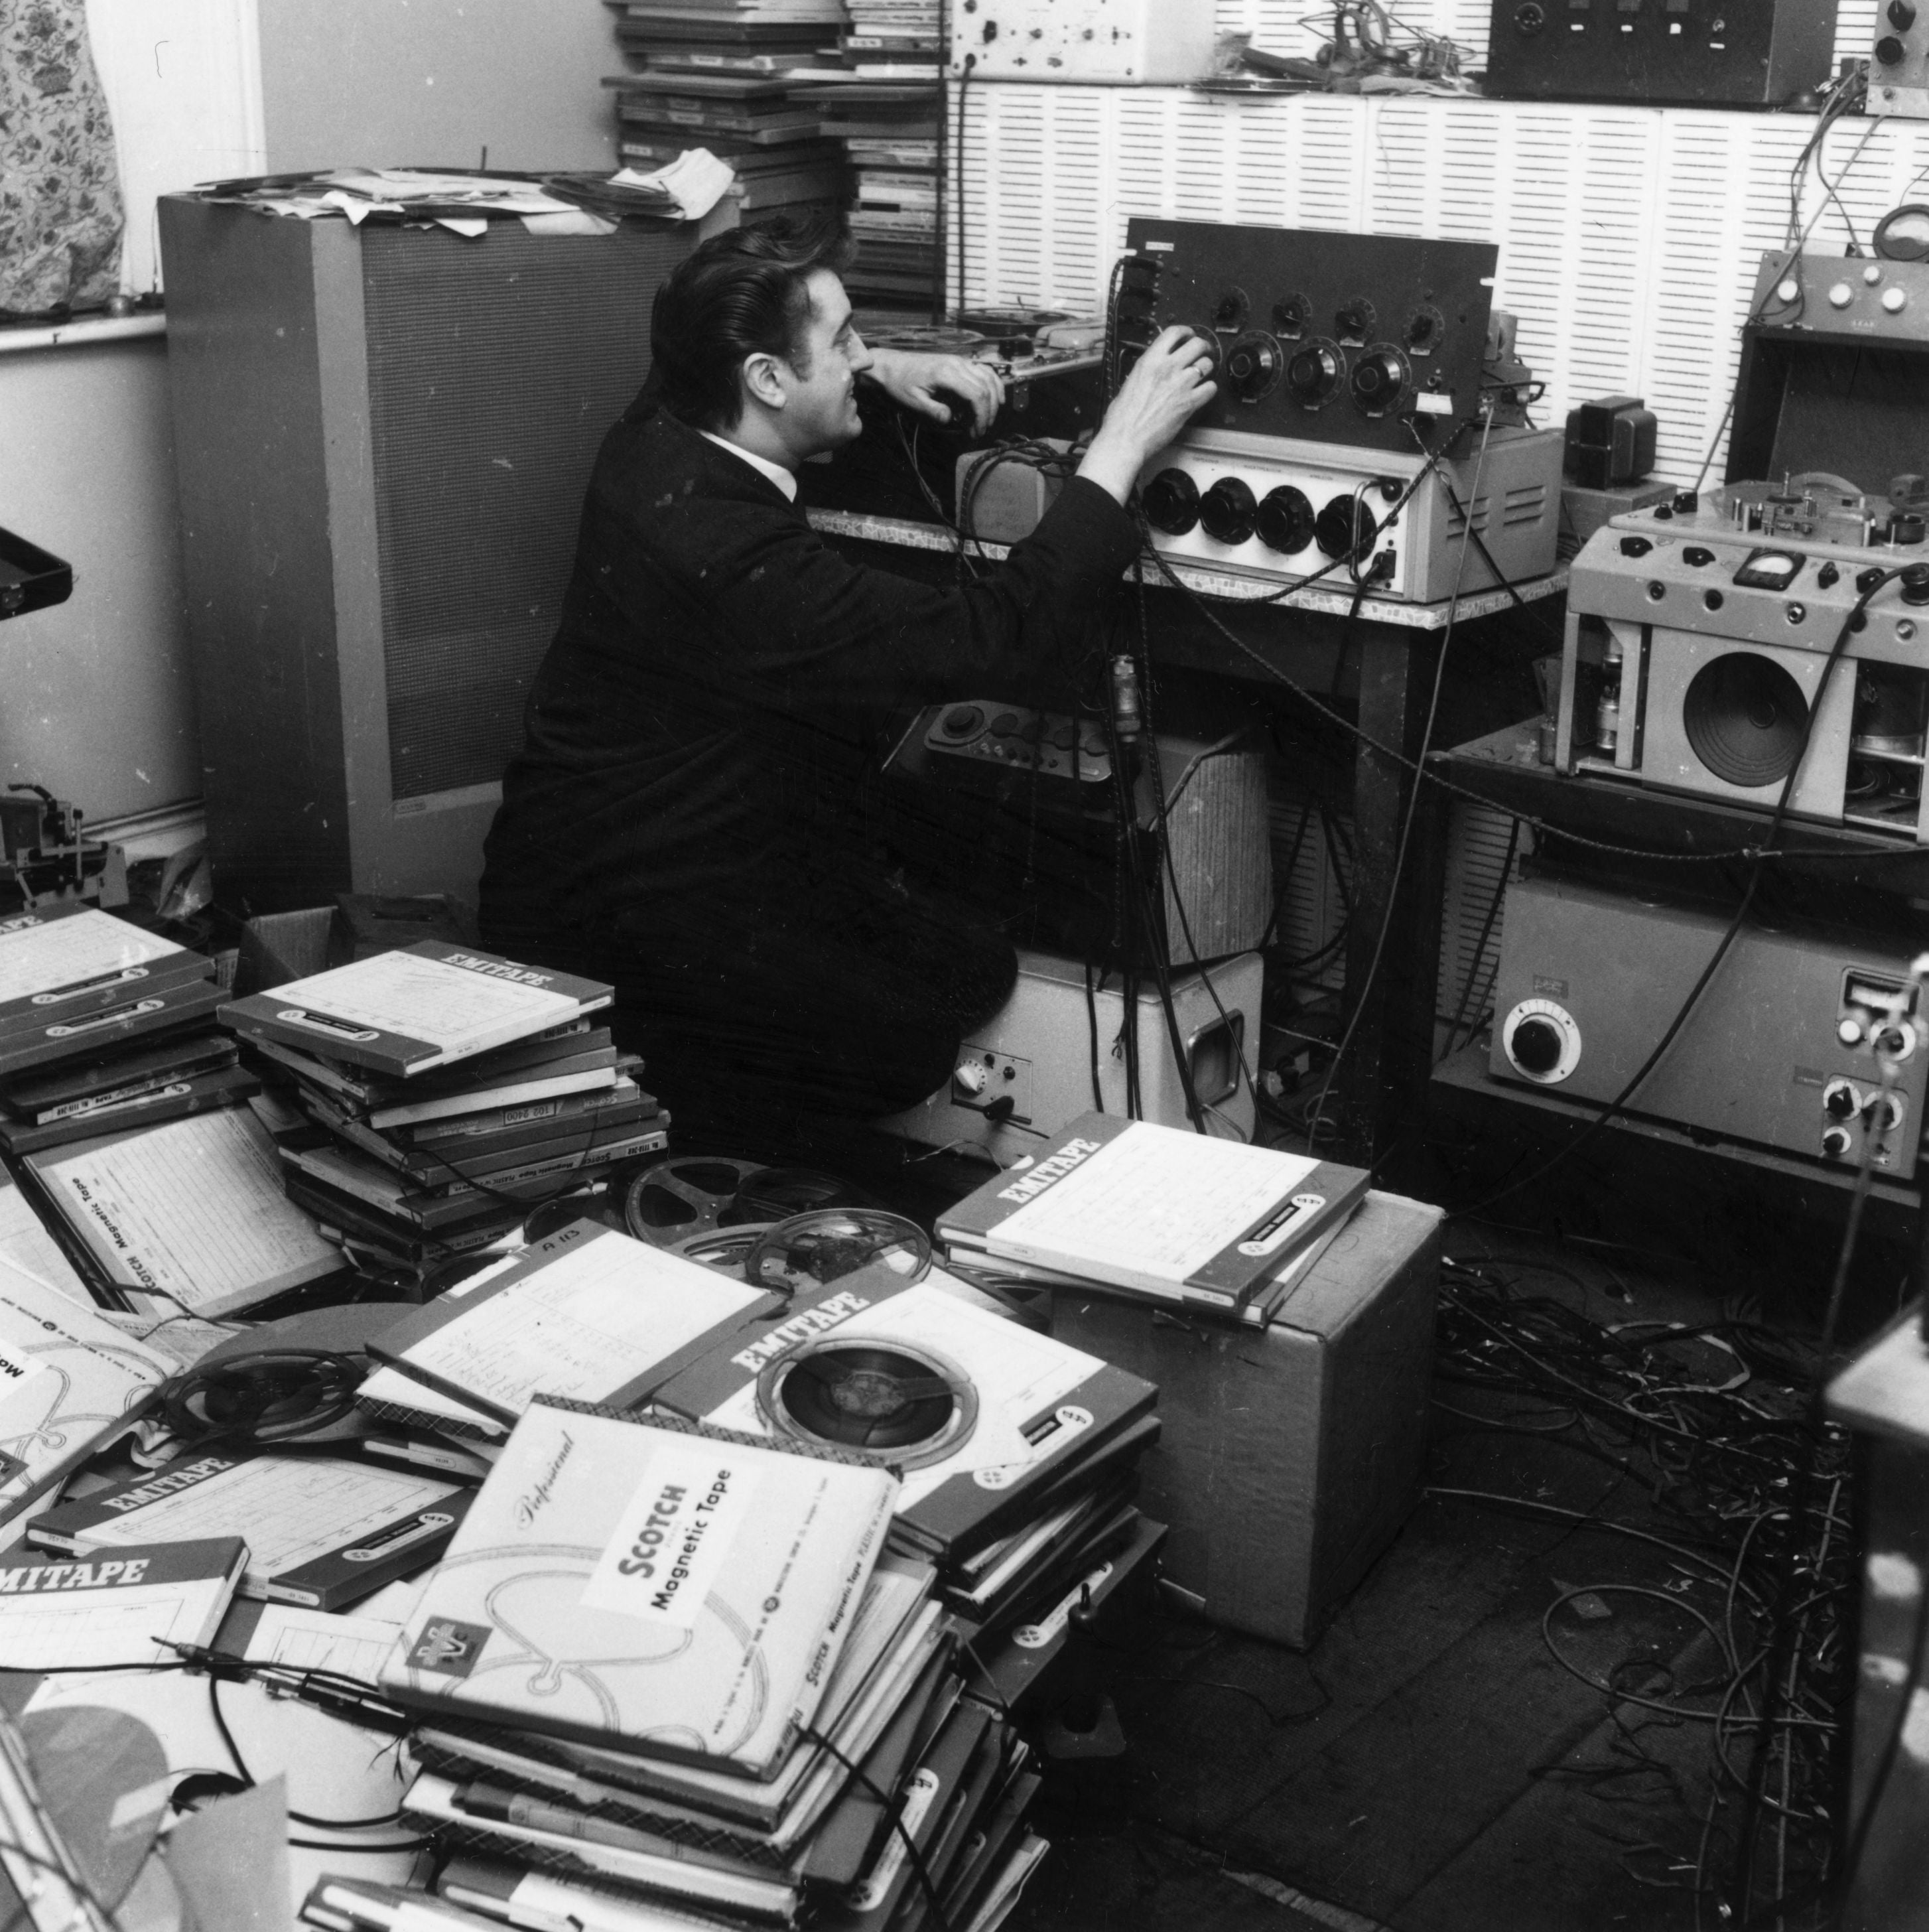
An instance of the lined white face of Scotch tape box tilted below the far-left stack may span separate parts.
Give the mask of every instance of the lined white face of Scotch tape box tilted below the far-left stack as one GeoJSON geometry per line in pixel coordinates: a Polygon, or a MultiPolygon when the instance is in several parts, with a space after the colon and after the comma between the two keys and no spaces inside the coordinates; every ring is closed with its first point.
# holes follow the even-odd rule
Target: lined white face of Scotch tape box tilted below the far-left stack
{"type": "Polygon", "coordinates": [[[112,1281],[185,1308],[239,1308],[255,1291],[342,1265],[282,1192],[274,1144],[241,1107],[29,1155],[29,1165],[112,1281]]]}

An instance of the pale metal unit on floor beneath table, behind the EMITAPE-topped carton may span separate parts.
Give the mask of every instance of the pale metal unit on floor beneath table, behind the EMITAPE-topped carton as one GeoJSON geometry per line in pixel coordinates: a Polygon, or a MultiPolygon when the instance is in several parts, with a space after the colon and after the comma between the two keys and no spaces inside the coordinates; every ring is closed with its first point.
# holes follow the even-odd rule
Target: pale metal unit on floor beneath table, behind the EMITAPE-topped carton
{"type": "MultiPolygon", "coordinates": [[[[1259,1049],[1263,983],[1257,952],[1172,976],[1193,1092],[1213,1109],[1207,1130],[1234,1140],[1253,1132],[1247,1068],[1259,1049]]],[[[1189,1126],[1172,1032],[1151,980],[1139,981],[1132,1026],[1143,1117],[1189,1126]]],[[[1116,976],[1087,974],[1074,958],[1020,951],[1012,997],[958,1049],[950,1084],[875,1126],[933,1148],[977,1144],[1000,1163],[1037,1153],[1041,1138],[1093,1107],[1126,1111],[1124,1028],[1126,999],[1116,976]]]]}

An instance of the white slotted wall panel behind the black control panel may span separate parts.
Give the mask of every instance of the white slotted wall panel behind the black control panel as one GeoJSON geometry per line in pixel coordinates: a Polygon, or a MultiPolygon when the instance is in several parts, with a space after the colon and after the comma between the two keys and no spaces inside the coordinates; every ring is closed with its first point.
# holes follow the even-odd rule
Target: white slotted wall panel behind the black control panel
{"type": "MultiPolygon", "coordinates": [[[[1661,417],[1657,473],[1686,483],[1705,458],[1720,475],[1755,265],[1784,245],[1790,170],[1813,131],[1809,116],[1703,108],[979,83],[964,288],[1095,313],[1133,214],[1491,240],[1495,305],[1520,317],[1547,384],[1535,419],[1643,396],[1661,417]]],[[[1807,245],[1846,245],[1842,209],[1867,243],[1888,209],[1923,197],[1929,122],[1844,120],[1823,166],[1840,207],[1811,170],[1807,245]]]]}

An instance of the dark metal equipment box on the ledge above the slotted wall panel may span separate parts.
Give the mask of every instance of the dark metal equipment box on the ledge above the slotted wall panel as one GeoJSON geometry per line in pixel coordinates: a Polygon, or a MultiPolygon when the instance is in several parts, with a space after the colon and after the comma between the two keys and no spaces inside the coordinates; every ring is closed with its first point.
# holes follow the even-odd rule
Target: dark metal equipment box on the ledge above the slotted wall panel
{"type": "Polygon", "coordinates": [[[1821,0],[1495,0],[1485,85],[1498,100],[1773,108],[1832,62],[1821,0]]]}

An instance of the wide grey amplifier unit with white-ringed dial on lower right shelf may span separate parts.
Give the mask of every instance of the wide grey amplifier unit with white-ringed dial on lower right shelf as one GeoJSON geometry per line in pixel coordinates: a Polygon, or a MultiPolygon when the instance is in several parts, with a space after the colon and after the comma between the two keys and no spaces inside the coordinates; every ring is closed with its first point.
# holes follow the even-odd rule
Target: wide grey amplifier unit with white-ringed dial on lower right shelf
{"type": "MultiPolygon", "coordinates": [[[[1489,1072],[1608,1101],[1655,1051],[1728,920],[1545,877],[1508,887],[1489,1072]]],[[[1915,1173],[1929,1080],[1910,952],[1821,927],[1744,927],[1630,1113],[1887,1175],[1915,1173]],[[1898,1063],[1885,1097],[1873,1039],[1898,1063]]]]}

